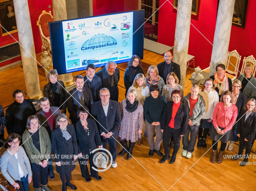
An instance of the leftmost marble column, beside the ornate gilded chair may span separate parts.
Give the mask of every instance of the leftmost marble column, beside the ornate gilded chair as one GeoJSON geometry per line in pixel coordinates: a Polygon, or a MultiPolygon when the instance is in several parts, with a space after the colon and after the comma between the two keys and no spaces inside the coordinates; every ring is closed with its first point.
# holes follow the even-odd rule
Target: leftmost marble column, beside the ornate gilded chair
{"type": "Polygon", "coordinates": [[[35,45],[28,9],[28,0],[13,0],[15,18],[20,43],[20,54],[26,85],[26,93],[30,99],[40,99],[40,90],[35,45]]]}

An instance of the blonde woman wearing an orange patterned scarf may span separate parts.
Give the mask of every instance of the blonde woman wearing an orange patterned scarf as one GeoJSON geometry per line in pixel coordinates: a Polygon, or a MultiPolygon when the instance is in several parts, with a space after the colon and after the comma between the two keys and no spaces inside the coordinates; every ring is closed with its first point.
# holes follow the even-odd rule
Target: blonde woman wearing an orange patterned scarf
{"type": "Polygon", "coordinates": [[[150,88],[151,85],[158,85],[159,86],[159,95],[162,95],[162,89],[164,84],[164,80],[162,77],[159,76],[159,72],[156,66],[151,65],[147,69],[147,75],[146,75],[146,84],[148,88],[150,88]]]}

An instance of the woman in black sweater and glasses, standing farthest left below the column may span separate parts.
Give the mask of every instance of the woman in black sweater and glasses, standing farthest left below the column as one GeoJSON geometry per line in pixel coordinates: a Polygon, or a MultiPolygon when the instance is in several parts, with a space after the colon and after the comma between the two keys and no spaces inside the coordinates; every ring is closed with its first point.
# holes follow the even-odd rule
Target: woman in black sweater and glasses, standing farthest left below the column
{"type": "Polygon", "coordinates": [[[20,136],[26,129],[27,119],[36,114],[36,109],[30,100],[24,99],[23,91],[13,92],[14,102],[6,109],[5,126],[8,134],[17,133],[20,136]]]}

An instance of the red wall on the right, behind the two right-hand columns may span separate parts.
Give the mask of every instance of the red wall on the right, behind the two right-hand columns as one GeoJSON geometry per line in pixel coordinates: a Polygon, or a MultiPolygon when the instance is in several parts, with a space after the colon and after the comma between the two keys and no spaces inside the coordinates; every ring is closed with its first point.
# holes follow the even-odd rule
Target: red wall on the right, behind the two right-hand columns
{"type": "MultiPolygon", "coordinates": [[[[160,0],[160,6],[165,0],[160,0]]],[[[245,29],[237,26],[231,28],[231,37],[229,43],[229,51],[236,49],[242,56],[240,67],[243,63],[244,56],[251,54],[256,57],[255,45],[255,13],[256,1],[249,1],[245,29]]],[[[158,25],[158,42],[173,46],[176,11],[173,10],[171,4],[167,1],[159,9],[159,25],[158,25]]],[[[200,1],[199,15],[192,15],[191,23],[202,33],[200,34],[192,25],[190,25],[188,54],[195,56],[195,67],[200,66],[201,69],[209,67],[212,54],[212,45],[202,36],[204,35],[211,43],[213,43],[214,30],[217,16],[217,0],[200,1]]]]}

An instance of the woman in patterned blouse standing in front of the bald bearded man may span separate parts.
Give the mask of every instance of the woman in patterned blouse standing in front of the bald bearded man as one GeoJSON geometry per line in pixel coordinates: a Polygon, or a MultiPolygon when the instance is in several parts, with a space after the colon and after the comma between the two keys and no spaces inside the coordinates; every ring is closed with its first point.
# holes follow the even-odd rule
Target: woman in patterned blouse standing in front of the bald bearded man
{"type": "Polygon", "coordinates": [[[179,79],[174,72],[170,72],[166,78],[166,84],[163,87],[162,96],[166,98],[166,101],[172,101],[171,92],[173,90],[181,91],[181,99],[183,98],[183,87],[179,84],[179,79]]]}

